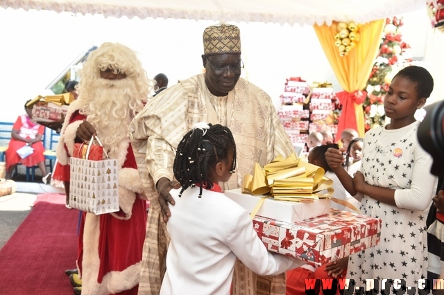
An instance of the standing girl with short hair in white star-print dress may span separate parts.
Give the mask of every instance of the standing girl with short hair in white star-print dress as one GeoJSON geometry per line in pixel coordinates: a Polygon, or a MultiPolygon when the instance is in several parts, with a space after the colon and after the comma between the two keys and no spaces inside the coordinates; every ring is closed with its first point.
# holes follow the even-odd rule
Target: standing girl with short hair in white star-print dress
{"type": "Polygon", "coordinates": [[[432,76],[420,66],[395,75],[384,99],[391,123],[365,134],[362,168],[353,178],[340,165],[341,150],[325,154],[343,186],[361,201],[361,213],[382,219],[379,244],[348,261],[346,277],[357,285],[385,278],[415,286],[427,276],[426,219],[437,179],[430,174],[432,158],[418,143],[414,114],[432,89],[432,76]]]}

